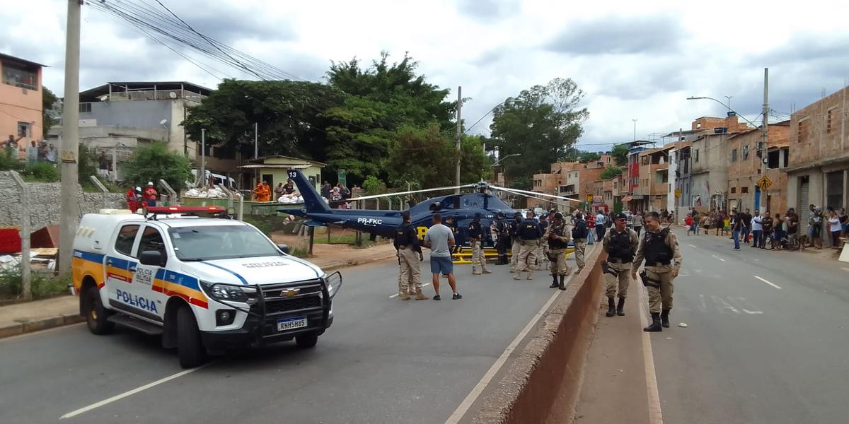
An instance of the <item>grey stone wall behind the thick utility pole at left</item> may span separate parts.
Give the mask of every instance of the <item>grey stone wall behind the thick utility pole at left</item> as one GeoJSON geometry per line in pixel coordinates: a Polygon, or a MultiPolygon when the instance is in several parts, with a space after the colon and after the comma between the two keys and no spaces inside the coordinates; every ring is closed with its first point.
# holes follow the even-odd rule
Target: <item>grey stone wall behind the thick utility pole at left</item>
{"type": "MultiPolygon", "coordinates": [[[[30,188],[30,219],[31,229],[36,231],[44,226],[59,224],[60,210],[60,184],[59,182],[28,182],[30,188]]],[[[106,195],[107,208],[126,209],[127,202],[124,201],[122,193],[108,193],[106,195]]],[[[0,226],[20,226],[20,191],[14,184],[12,175],[8,171],[0,171],[0,226]]],[[[82,192],[80,190],[79,204],[80,217],[101,209],[102,195],[100,193],[82,192]]]]}

